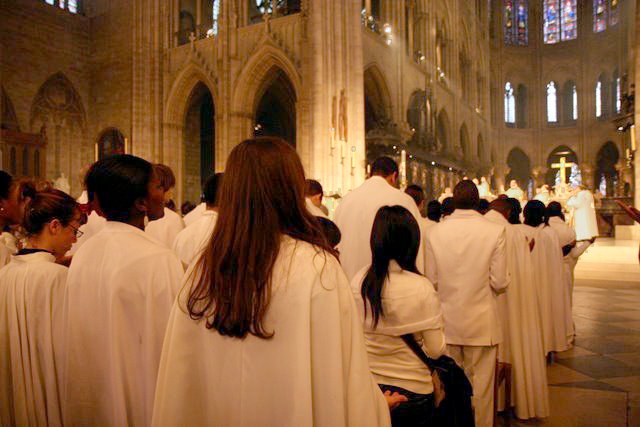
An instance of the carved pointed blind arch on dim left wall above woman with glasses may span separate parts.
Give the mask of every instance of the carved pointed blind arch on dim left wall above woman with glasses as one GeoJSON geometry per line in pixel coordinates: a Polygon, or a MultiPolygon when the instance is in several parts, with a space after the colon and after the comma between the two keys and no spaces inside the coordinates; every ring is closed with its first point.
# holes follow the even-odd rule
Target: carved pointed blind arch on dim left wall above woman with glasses
{"type": "Polygon", "coordinates": [[[31,131],[40,132],[43,126],[47,135],[46,178],[56,179],[64,174],[71,192],[79,192],[81,183],[76,172],[92,160],[93,150],[87,141],[82,99],[61,72],[40,86],[31,104],[31,131]]]}

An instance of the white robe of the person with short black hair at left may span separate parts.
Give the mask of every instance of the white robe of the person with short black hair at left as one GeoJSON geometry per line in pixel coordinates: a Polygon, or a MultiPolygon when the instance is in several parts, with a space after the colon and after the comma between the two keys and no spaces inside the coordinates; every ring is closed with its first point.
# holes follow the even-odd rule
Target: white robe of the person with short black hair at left
{"type": "Polygon", "coordinates": [[[150,424],[182,276],[171,250],[129,224],[108,221],[80,248],[67,280],[66,425],[150,424]]]}

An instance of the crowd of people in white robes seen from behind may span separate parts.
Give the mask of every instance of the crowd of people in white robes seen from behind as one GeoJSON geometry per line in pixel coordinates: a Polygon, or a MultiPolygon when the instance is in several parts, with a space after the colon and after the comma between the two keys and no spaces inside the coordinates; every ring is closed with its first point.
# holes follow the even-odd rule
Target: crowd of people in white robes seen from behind
{"type": "Polygon", "coordinates": [[[433,425],[408,334],[464,369],[476,425],[547,417],[597,229],[557,202],[482,208],[470,180],[427,207],[397,180],[379,158],[331,221],[276,138],[237,145],[184,217],[171,170],[131,155],[77,201],[0,172],[0,425],[433,425]]]}

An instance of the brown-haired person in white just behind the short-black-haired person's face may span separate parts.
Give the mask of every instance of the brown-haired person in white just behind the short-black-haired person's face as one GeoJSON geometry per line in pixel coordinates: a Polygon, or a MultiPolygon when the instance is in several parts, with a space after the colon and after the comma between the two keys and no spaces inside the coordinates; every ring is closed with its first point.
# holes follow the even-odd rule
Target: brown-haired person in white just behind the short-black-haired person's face
{"type": "Polygon", "coordinates": [[[171,200],[172,190],[176,185],[176,177],[169,166],[155,164],[153,168],[164,190],[165,208],[162,218],[149,221],[144,231],[165,247],[173,248],[176,236],[184,229],[182,217],[166,207],[166,204],[171,200]]]}

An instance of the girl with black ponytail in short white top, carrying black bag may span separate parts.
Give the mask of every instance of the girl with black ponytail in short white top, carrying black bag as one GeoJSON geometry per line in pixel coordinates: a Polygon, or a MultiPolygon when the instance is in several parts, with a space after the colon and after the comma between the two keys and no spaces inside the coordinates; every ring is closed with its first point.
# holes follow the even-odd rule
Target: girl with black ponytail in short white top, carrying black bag
{"type": "Polygon", "coordinates": [[[371,231],[371,266],[351,282],[364,320],[369,366],[380,388],[408,397],[391,413],[395,426],[428,425],[433,384],[422,361],[401,336],[413,334],[431,358],[445,351],[438,295],[416,268],[420,228],[402,206],[385,206],[371,231]]]}

